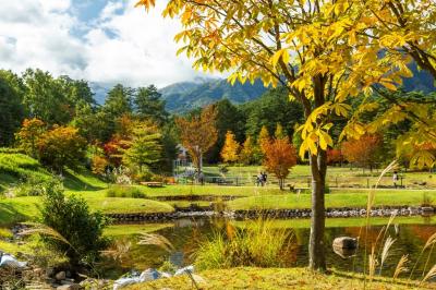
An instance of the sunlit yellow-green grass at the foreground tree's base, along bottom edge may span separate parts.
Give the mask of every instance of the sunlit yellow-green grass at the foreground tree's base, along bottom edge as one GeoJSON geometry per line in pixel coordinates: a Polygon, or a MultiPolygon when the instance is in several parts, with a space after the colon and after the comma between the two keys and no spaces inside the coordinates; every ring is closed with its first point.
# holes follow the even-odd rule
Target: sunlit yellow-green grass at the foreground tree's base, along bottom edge
{"type": "MultiPolygon", "coordinates": [[[[201,289],[364,289],[361,275],[334,270],[330,275],[317,274],[305,268],[232,268],[206,270],[198,274],[204,281],[201,289]]],[[[375,278],[366,283],[366,289],[434,289],[434,285],[416,282],[408,285],[404,280],[375,278]]],[[[159,279],[128,287],[130,290],[143,289],[193,289],[187,276],[159,279]]]]}

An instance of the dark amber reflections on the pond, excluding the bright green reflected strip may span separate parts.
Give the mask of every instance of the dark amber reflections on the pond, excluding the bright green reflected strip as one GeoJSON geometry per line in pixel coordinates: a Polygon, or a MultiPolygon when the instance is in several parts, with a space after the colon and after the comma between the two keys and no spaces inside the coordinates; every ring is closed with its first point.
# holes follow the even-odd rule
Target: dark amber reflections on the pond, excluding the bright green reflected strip
{"type": "MultiPolygon", "coordinates": [[[[415,218],[416,219],[416,218],[415,218]]],[[[386,219],[386,223],[387,223],[386,219]]],[[[194,261],[193,253],[198,246],[201,241],[210,238],[214,231],[226,230],[227,220],[223,219],[180,219],[173,222],[173,227],[165,228],[158,230],[157,233],[162,234],[168,240],[170,240],[175,250],[180,252],[179,258],[181,264],[187,265],[194,261]]],[[[233,221],[230,221],[233,222],[233,221]]],[[[239,221],[241,222],[241,221],[239,221]]],[[[276,222],[276,221],[275,221],[276,222]]],[[[238,223],[235,223],[238,225],[238,223]]],[[[293,228],[292,222],[287,220],[277,220],[279,227],[287,227],[293,231],[294,238],[291,241],[291,253],[287,258],[287,266],[307,266],[308,261],[308,228],[293,228]]],[[[360,223],[361,225],[361,223],[360,223]]],[[[124,225],[122,227],[129,227],[124,225]]],[[[329,267],[339,270],[352,270],[352,271],[363,271],[364,257],[371,252],[372,244],[379,238],[379,232],[383,226],[372,226],[368,229],[362,227],[330,227],[326,228],[326,255],[327,263],[329,267]],[[337,253],[331,246],[332,240],[337,237],[352,237],[358,238],[359,249],[355,252],[343,252],[337,253]]],[[[392,276],[395,268],[403,254],[409,254],[412,261],[409,265],[410,267],[416,262],[423,245],[427,239],[436,232],[436,225],[432,225],[432,219],[417,220],[415,225],[393,225],[389,227],[386,232],[385,238],[391,237],[396,239],[391,250],[389,251],[389,256],[384,263],[384,268],[382,274],[385,276],[392,276]]],[[[165,261],[168,261],[169,254],[165,251],[155,246],[144,246],[137,245],[138,235],[132,234],[124,237],[132,241],[132,247],[129,253],[129,257],[123,259],[117,273],[122,273],[126,269],[145,269],[148,267],[159,267],[165,261]]],[[[121,238],[119,238],[121,239],[121,238]]],[[[383,245],[378,249],[382,251],[383,245]]],[[[377,251],[378,251],[377,249],[377,251]]],[[[424,268],[427,253],[425,253],[425,258],[421,258],[417,263],[415,276],[421,276],[424,268]]],[[[429,256],[428,265],[434,265],[436,262],[436,253],[432,253],[429,256]]],[[[108,267],[113,267],[114,265],[108,265],[108,267]]],[[[378,273],[378,269],[377,269],[378,273]]]]}

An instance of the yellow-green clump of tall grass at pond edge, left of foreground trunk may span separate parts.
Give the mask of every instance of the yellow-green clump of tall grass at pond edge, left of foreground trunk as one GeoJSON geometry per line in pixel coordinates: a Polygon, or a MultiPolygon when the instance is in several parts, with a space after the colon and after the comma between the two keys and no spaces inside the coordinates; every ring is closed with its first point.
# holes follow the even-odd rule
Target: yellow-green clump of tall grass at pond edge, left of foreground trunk
{"type": "Polygon", "coordinates": [[[227,226],[203,242],[195,253],[199,269],[240,266],[280,267],[289,251],[291,231],[276,229],[271,220],[258,219],[244,228],[227,226]]]}

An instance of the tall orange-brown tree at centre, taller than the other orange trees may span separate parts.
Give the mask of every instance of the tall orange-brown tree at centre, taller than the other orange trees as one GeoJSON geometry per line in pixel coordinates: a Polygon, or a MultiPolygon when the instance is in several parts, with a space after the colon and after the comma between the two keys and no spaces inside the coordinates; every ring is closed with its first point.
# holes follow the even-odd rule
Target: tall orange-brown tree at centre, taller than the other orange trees
{"type": "Polygon", "coordinates": [[[191,119],[175,118],[180,141],[190,153],[198,171],[202,170],[203,154],[206,154],[218,138],[218,131],[215,125],[216,117],[217,112],[214,107],[207,106],[199,116],[194,116],[191,119]]]}

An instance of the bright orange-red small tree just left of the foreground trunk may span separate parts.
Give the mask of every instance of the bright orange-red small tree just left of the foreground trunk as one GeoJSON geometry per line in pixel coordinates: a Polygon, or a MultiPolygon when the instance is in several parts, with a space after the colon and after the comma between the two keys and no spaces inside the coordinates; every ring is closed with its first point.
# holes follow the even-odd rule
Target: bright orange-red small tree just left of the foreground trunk
{"type": "Polygon", "coordinates": [[[283,190],[284,179],[290,169],[296,165],[296,150],[288,137],[275,138],[264,144],[264,166],[279,180],[280,190],[283,190]]]}

